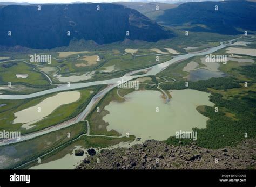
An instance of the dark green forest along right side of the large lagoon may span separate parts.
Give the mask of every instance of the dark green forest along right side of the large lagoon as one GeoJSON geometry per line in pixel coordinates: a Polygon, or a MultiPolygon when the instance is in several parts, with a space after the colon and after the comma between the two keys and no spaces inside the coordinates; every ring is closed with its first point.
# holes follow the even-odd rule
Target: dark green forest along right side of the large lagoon
{"type": "MultiPolygon", "coordinates": [[[[194,129],[197,131],[196,145],[206,148],[221,148],[234,146],[237,142],[256,136],[256,92],[248,92],[248,95],[232,100],[223,99],[221,95],[214,94],[210,100],[218,107],[215,112],[214,107],[205,106],[204,111],[200,111],[204,116],[210,118],[207,121],[207,128],[194,129]],[[254,96],[254,98],[252,98],[254,96]],[[235,113],[238,120],[227,117],[221,110],[225,107],[228,111],[235,113]]],[[[176,139],[170,137],[166,143],[176,145],[186,145],[193,142],[188,139],[176,139]]]]}

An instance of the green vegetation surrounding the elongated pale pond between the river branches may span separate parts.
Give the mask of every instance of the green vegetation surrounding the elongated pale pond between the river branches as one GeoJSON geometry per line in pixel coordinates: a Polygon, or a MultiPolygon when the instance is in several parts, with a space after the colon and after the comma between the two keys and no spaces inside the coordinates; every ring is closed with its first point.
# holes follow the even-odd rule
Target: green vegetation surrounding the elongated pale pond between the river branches
{"type": "Polygon", "coordinates": [[[4,103],[6,105],[0,107],[0,119],[2,121],[0,129],[5,129],[6,131],[19,130],[22,134],[26,134],[42,130],[43,128],[53,126],[64,121],[67,121],[69,119],[72,119],[85,109],[86,105],[90,102],[91,98],[102,88],[102,85],[98,85],[96,87],[89,87],[77,90],[81,94],[80,99],[78,99],[76,102],[65,104],[58,107],[49,116],[33,124],[35,125],[35,127],[30,128],[28,130],[22,128],[22,124],[12,124],[12,121],[15,119],[14,113],[21,111],[23,109],[27,109],[31,106],[35,106],[38,103],[42,102],[42,100],[54,96],[57,93],[52,93],[50,95],[41,96],[37,98],[16,100],[16,102],[14,102],[14,100],[1,100],[1,103],[4,103]],[[90,91],[93,91],[93,94],[91,94],[90,91]]]}

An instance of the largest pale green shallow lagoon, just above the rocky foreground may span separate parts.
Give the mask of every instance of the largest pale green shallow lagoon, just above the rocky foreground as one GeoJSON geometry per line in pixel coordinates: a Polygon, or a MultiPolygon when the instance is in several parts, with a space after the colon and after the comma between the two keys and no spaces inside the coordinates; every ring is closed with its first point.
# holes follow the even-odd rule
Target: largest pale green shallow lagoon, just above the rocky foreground
{"type": "Polygon", "coordinates": [[[191,131],[206,128],[207,117],[196,107],[214,106],[209,101],[210,93],[197,90],[171,90],[172,99],[165,104],[159,91],[134,91],[125,96],[123,103],[110,102],[105,109],[110,112],[103,117],[109,123],[107,130],[116,130],[122,135],[130,133],[143,140],[166,140],[176,131],[191,131]],[[156,112],[159,107],[159,112],[156,112]]]}

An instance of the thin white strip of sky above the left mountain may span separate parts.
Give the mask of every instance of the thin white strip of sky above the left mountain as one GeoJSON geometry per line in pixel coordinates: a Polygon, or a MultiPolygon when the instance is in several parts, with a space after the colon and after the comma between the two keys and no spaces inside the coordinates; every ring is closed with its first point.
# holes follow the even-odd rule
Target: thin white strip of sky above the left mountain
{"type": "MultiPolygon", "coordinates": [[[[72,3],[72,2],[115,2],[115,1],[121,1],[121,0],[0,0],[0,2],[28,2],[28,3],[72,3]]],[[[122,0],[122,1],[128,1],[128,0],[122,0]]]]}

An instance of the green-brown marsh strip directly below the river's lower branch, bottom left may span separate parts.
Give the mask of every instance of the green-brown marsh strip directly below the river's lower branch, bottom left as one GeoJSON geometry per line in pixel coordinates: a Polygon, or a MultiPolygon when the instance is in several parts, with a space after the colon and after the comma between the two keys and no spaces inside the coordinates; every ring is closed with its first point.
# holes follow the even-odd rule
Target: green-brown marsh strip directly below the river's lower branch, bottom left
{"type": "Polygon", "coordinates": [[[64,143],[78,138],[78,136],[86,133],[86,131],[86,123],[79,122],[75,125],[63,128],[62,130],[54,131],[37,138],[12,145],[2,146],[0,149],[0,154],[9,160],[9,162],[6,162],[6,165],[2,167],[11,169],[33,159],[37,159],[45,153],[49,153],[51,150],[64,145],[64,143]],[[70,133],[70,138],[68,138],[68,133],[70,133]]]}

